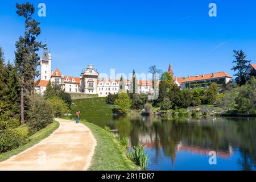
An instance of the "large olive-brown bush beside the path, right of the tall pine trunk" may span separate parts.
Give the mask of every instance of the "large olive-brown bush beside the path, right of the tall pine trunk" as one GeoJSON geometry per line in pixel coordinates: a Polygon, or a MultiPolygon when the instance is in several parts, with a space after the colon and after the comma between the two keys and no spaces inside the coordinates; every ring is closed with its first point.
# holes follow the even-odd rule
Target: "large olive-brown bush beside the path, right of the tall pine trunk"
{"type": "Polygon", "coordinates": [[[53,122],[53,109],[42,96],[35,94],[30,96],[30,110],[28,112],[27,125],[30,133],[39,131],[53,122]]]}

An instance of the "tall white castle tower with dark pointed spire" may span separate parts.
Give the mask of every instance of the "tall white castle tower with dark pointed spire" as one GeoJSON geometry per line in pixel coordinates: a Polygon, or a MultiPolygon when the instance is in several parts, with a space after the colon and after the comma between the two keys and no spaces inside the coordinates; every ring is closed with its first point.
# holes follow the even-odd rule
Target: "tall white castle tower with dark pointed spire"
{"type": "Polygon", "coordinates": [[[48,53],[48,48],[46,43],[44,44],[43,56],[40,59],[41,65],[41,80],[50,80],[51,79],[51,53],[48,53]]]}

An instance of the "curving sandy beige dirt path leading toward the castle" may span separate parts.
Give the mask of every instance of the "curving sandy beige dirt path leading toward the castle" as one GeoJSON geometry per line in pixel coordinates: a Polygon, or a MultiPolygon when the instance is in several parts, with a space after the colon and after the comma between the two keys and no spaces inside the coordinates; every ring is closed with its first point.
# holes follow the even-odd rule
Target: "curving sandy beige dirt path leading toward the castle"
{"type": "Polygon", "coordinates": [[[85,125],[56,119],[59,128],[48,138],[0,163],[0,170],[86,170],[94,154],[96,139],[85,125]]]}

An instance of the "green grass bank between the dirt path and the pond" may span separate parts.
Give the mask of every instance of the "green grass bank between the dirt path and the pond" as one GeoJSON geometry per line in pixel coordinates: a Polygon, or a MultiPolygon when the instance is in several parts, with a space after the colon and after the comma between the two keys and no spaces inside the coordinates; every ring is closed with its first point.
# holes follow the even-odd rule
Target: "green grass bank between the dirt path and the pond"
{"type": "Polygon", "coordinates": [[[101,127],[93,123],[81,121],[89,127],[97,140],[97,146],[93,155],[92,165],[89,171],[133,171],[138,167],[127,158],[128,152],[125,147],[101,127]]]}

